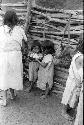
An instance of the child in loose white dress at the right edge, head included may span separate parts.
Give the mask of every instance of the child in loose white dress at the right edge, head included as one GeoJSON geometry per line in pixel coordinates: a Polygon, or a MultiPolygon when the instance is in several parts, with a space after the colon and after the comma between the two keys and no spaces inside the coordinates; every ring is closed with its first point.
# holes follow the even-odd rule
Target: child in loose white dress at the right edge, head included
{"type": "Polygon", "coordinates": [[[69,69],[69,76],[66,81],[65,91],[62,97],[62,104],[64,106],[62,115],[72,120],[68,114],[68,109],[76,108],[78,103],[79,93],[81,90],[83,81],[83,40],[80,40],[76,49],[76,54],[72,58],[72,62],[69,69]]]}

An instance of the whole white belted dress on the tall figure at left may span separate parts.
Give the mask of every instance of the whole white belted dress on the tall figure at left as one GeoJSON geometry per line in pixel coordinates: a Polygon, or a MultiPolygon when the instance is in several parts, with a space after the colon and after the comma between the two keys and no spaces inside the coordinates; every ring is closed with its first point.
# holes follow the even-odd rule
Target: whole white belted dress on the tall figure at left
{"type": "Polygon", "coordinates": [[[24,30],[15,26],[9,33],[8,26],[0,27],[0,89],[23,89],[22,39],[24,30]]]}

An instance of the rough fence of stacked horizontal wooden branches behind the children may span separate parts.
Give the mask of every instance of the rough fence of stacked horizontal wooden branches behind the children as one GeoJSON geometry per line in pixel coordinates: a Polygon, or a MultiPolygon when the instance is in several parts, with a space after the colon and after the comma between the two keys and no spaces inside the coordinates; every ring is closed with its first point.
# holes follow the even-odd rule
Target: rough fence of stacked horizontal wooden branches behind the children
{"type": "MultiPolygon", "coordinates": [[[[26,4],[9,3],[3,4],[2,6],[14,9],[18,17],[23,21],[23,24],[25,23],[27,14],[26,4]]],[[[28,36],[30,36],[32,40],[39,40],[39,42],[44,40],[52,41],[56,48],[56,56],[61,51],[61,43],[65,48],[68,46],[65,56],[61,58],[58,65],[55,65],[53,92],[63,93],[64,91],[68,68],[71,62],[71,54],[76,48],[81,33],[83,33],[82,10],[46,9],[39,6],[32,7],[28,36]]]]}

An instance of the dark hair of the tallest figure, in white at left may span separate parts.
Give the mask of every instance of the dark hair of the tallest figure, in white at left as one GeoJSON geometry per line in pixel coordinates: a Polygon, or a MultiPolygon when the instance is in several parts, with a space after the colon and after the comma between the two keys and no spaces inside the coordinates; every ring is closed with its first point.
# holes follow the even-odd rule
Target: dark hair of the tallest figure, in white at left
{"type": "Polygon", "coordinates": [[[9,27],[14,27],[18,23],[18,17],[13,10],[8,10],[4,15],[3,20],[4,25],[9,27]]]}

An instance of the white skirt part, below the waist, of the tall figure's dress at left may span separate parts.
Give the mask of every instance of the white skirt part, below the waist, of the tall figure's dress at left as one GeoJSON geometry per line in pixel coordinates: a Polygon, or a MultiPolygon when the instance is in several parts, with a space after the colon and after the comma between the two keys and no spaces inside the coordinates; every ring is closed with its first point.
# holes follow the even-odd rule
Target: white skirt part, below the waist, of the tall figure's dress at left
{"type": "Polygon", "coordinates": [[[23,89],[21,51],[0,52],[0,89],[23,89]]]}

